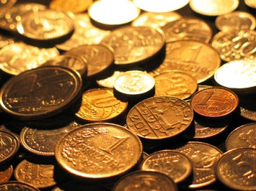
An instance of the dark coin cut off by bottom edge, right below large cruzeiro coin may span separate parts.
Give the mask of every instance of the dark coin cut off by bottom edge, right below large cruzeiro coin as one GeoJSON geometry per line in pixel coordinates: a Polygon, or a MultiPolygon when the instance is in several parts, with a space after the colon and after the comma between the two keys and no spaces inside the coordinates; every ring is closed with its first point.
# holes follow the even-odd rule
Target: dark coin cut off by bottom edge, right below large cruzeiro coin
{"type": "Polygon", "coordinates": [[[123,190],[177,191],[177,185],[161,172],[135,171],[120,179],[112,189],[112,191],[123,190]]]}

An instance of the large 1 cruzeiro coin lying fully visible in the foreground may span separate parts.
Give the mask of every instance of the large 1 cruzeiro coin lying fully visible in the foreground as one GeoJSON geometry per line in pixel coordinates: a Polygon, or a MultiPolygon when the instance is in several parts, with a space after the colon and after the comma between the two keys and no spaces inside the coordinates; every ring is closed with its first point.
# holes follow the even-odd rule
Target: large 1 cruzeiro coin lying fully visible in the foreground
{"type": "Polygon", "coordinates": [[[58,164],[76,178],[108,180],[136,167],[142,144],[123,126],[86,124],[58,141],[55,156],[58,164]]]}

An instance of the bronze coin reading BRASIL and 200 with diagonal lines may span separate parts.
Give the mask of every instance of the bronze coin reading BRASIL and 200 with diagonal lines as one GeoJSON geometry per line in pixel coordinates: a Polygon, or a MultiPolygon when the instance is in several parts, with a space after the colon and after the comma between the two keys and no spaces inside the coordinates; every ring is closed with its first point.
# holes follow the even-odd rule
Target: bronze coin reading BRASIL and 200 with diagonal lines
{"type": "Polygon", "coordinates": [[[193,110],[180,98],[158,96],[137,103],[126,124],[143,139],[163,140],[181,134],[193,121],[193,110]]]}

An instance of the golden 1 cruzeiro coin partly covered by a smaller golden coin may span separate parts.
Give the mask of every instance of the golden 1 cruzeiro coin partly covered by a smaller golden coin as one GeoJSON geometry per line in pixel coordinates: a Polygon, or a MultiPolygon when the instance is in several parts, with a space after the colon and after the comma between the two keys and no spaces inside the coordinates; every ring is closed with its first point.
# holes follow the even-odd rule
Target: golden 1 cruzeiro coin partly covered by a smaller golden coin
{"type": "Polygon", "coordinates": [[[214,75],[220,65],[221,57],[211,45],[178,40],[167,43],[164,61],[149,73],[155,76],[168,70],[182,70],[197,79],[198,83],[203,83],[214,75]]]}

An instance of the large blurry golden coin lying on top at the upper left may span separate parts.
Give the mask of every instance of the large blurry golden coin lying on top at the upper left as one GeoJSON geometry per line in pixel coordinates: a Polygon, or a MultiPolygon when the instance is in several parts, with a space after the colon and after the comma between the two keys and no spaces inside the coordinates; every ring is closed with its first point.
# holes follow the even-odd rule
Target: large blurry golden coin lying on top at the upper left
{"type": "Polygon", "coordinates": [[[74,30],[74,14],[60,9],[30,11],[17,23],[19,34],[35,40],[59,39],[74,30]]]}

